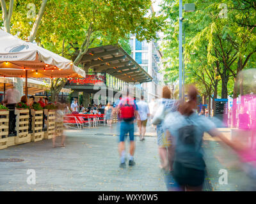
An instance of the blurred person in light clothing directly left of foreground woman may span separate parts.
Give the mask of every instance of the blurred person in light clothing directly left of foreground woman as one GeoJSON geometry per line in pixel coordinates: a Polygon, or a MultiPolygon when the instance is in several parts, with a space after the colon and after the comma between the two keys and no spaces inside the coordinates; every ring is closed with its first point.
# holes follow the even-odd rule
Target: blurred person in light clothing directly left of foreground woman
{"type": "MultiPolygon", "coordinates": [[[[156,105],[163,105],[164,112],[174,112],[177,110],[177,107],[175,106],[176,101],[171,99],[172,92],[169,89],[169,87],[164,86],[162,97],[159,99],[156,103],[156,105]]],[[[156,107],[155,107],[156,108],[156,107]]],[[[159,109],[156,108],[156,112],[158,112],[159,109]]],[[[164,120],[161,120],[159,124],[156,126],[156,132],[157,132],[157,144],[158,144],[158,150],[159,150],[159,157],[160,157],[160,168],[164,170],[172,170],[172,157],[173,157],[173,147],[172,147],[172,141],[168,140],[166,132],[163,129],[163,122],[164,120]]]]}

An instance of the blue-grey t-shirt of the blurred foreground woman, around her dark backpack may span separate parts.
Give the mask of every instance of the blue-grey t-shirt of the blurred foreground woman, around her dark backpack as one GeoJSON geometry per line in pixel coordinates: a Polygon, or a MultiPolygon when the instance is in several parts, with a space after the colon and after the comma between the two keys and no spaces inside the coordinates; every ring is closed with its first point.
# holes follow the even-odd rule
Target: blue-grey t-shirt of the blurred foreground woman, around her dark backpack
{"type": "Polygon", "coordinates": [[[211,129],[216,128],[214,123],[203,115],[197,115],[196,113],[184,116],[179,112],[171,112],[164,119],[163,128],[168,130],[174,138],[175,161],[184,164],[188,168],[204,170],[202,140],[204,132],[209,132],[211,129]],[[179,130],[191,125],[195,127],[195,145],[184,145],[184,143],[180,142],[179,130]]]}

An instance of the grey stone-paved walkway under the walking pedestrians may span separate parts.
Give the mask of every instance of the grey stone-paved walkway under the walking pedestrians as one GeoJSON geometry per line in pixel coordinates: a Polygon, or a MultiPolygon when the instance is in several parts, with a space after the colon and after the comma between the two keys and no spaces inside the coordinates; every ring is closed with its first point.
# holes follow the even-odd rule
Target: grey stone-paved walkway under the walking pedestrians
{"type": "MultiPolygon", "coordinates": [[[[222,129],[227,134],[227,129],[222,129]]],[[[145,141],[136,137],[136,166],[120,169],[118,130],[115,126],[68,130],[67,146],[52,149],[51,140],[26,143],[0,150],[0,159],[19,158],[22,162],[0,162],[0,191],[166,191],[163,171],[159,169],[157,139],[148,127],[145,141]],[[28,185],[27,171],[36,172],[36,184],[28,185]]],[[[136,134],[138,135],[138,134],[136,134]]],[[[60,144],[60,139],[57,143],[60,144]]],[[[204,138],[207,179],[205,191],[244,191],[252,180],[239,168],[232,150],[220,141],[204,138]],[[228,184],[221,185],[219,171],[228,170],[228,184]]],[[[127,147],[128,149],[128,147],[127,147]]]]}

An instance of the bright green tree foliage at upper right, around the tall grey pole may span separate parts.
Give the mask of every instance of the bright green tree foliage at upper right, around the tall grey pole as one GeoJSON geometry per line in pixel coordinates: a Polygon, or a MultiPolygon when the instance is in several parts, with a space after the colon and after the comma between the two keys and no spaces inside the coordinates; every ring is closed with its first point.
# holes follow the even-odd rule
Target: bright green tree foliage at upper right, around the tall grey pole
{"type": "MultiPolygon", "coordinates": [[[[196,6],[195,12],[183,13],[186,83],[196,82],[209,95],[217,89],[225,98],[226,92],[233,94],[237,73],[255,66],[256,5],[244,0],[184,3],[196,6]],[[227,4],[227,18],[220,17],[223,3],[227,4]],[[223,84],[221,89],[219,81],[223,84]]],[[[179,1],[165,0],[161,7],[168,22],[162,49],[165,76],[175,82],[179,77],[179,1]]]]}

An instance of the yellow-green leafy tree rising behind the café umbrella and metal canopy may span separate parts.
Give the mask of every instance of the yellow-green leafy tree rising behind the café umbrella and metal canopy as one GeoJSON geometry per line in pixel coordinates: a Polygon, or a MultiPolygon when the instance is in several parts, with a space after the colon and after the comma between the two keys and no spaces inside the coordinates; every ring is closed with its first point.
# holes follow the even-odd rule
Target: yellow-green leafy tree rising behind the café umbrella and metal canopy
{"type": "MultiPolygon", "coordinates": [[[[127,40],[130,33],[136,34],[138,40],[157,38],[156,33],[161,30],[163,20],[154,13],[145,16],[150,4],[149,0],[62,1],[56,7],[61,8],[65,15],[52,11],[54,21],[45,20],[40,27],[39,41],[45,48],[57,47],[59,53],[72,59],[76,66],[81,66],[81,59],[90,47],[120,43],[127,40]],[[52,34],[42,34],[49,27],[52,34]]],[[[88,71],[86,66],[83,68],[88,71]]],[[[56,100],[55,96],[66,82],[67,79],[60,78],[52,81],[52,101],[56,100]]]]}

